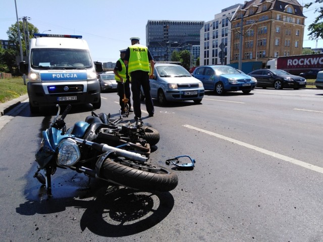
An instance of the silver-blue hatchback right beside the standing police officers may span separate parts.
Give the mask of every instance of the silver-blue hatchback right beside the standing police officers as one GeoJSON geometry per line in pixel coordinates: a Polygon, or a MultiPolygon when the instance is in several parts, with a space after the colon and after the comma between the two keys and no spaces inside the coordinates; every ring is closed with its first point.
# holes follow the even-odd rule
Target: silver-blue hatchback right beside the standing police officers
{"type": "MultiPolygon", "coordinates": [[[[160,105],[169,101],[194,101],[200,103],[204,96],[201,81],[182,66],[168,63],[155,63],[155,77],[149,79],[150,95],[157,98],[160,105]]],[[[144,100],[141,90],[141,100],[144,100]]]]}

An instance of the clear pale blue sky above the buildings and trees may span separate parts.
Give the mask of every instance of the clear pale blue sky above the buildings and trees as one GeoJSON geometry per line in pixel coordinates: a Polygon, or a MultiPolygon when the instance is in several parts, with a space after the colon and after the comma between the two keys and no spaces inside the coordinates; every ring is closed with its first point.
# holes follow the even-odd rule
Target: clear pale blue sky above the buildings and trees
{"type": "MultiPolygon", "coordinates": [[[[298,1],[302,6],[313,0],[298,1]]],[[[130,45],[130,37],[139,37],[146,44],[148,20],[211,21],[227,7],[244,4],[244,0],[0,0],[0,39],[8,39],[9,27],[18,18],[29,17],[39,33],[82,35],[88,42],[93,61],[117,62],[120,49],[130,45]],[[50,31],[49,31],[50,30],[50,31]]],[[[304,9],[305,33],[303,47],[316,47],[309,40],[307,26],[318,15],[316,7],[304,9]]],[[[317,41],[323,47],[323,40],[317,41]]]]}

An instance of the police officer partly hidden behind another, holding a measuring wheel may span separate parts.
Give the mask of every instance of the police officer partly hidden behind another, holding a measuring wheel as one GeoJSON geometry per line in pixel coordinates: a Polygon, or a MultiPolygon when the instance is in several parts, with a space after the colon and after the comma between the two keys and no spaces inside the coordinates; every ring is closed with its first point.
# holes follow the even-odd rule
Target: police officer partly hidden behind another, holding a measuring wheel
{"type": "Polygon", "coordinates": [[[124,90],[126,93],[126,98],[128,98],[129,104],[129,112],[133,112],[131,109],[131,101],[130,101],[130,81],[129,76],[126,74],[126,65],[124,63],[124,58],[126,55],[126,49],[120,50],[120,59],[118,59],[115,69],[113,72],[115,73],[115,79],[117,81],[117,91],[119,95],[119,104],[121,106],[121,114],[125,114],[125,103],[122,101],[124,97],[124,90]],[[124,86],[125,85],[125,89],[124,86]]]}

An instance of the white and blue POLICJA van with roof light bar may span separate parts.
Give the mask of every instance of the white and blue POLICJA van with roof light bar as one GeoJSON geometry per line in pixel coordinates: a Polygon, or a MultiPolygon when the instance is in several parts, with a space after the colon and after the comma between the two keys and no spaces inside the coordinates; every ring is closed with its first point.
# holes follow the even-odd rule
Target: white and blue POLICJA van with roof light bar
{"type": "Polygon", "coordinates": [[[30,40],[29,63],[19,63],[19,71],[28,74],[29,107],[58,104],[92,104],[100,108],[100,84],[97,72],[101,63],[93,63],[88,44],[80,35],[34,34],[30,40]]]}

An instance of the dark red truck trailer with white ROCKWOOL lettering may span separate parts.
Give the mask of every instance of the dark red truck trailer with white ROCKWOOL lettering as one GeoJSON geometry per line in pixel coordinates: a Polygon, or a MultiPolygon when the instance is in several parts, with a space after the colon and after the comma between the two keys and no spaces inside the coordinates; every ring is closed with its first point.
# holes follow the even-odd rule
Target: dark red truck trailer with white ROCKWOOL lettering
{"type": "Polygon", "coordinates": [[[281,69],[293,75],[323,69],[323,53],[280,56],[267,62],[267,69],[281,69]]]}

